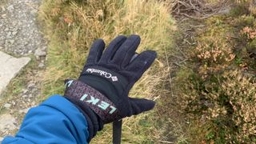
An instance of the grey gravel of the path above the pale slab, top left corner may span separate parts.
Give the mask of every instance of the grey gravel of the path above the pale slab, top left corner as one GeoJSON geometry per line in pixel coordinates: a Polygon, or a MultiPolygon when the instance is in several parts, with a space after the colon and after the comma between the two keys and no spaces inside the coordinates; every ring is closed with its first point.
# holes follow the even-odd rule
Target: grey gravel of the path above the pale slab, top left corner
{"type": "Polygon", "coordinates": [[[40,1],[9,0],[0,4],[0,50],[22,55],[38,48],[46,50],[36,22],[40,1]]]}

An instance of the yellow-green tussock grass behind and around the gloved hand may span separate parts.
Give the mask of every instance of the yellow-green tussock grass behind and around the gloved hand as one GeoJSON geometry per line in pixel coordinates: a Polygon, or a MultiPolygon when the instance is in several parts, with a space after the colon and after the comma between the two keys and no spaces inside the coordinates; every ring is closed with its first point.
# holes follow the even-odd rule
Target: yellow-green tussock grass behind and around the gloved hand
{"type": "MultiPolygon", "coordinates": [[[[158,59],[130,92],[130,96],[154,99],[159,102],[154,111],[133,118],[123,124],[122,142],[153,143],[166,140],[167,127],[163,123],[161,106],[170,94],[168,82],[172,53],[174,20],[165,2],[155,0],[45,0],[39,18],[44,22],[50,40],[47,69],[44,75],[44,94],[63,94],[63,81],[78,78],[90,45],[96,38],[106,43],[118,34],[139,34],[142,50],[156,50],[158,59]]],[[[43,97],[42,99],[45,99],[43,97]]],[[[168,106],[166,106],[168,107],[168,106]]],[[[170,121],[167,121],[170,122],[170,121]]],[[[111,126],[99,132],[95,143],[111,142],[111,126]]],[[[167,133],[169,134],[169,133],[167,133]]]]}

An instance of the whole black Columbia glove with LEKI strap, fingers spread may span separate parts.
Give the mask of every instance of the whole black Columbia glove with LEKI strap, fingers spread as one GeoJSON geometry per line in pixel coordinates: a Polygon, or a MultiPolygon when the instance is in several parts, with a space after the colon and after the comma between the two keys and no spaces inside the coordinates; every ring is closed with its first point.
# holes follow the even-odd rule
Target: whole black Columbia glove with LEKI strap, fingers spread
{"type": "Polygon", "coordinates": [[[103,40],[96,40],[78,81],[66,81],[64,95],[89,119],[91,137],[102,124],[153,109],[154,101],[128,97],[156,58],[152,50],[136,54],[139,43],[138,35],[118,36],[104,50],[103,40]]]}

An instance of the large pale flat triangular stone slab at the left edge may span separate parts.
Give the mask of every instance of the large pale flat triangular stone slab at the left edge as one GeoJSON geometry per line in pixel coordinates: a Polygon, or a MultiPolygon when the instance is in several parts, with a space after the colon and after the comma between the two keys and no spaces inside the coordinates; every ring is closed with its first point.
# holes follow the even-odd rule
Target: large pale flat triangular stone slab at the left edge
{"type": "Polygon", "coordinates": [[[0,51],[0,96],[22,67],[30,62],[30,58],[14,58],[0,51]]]}

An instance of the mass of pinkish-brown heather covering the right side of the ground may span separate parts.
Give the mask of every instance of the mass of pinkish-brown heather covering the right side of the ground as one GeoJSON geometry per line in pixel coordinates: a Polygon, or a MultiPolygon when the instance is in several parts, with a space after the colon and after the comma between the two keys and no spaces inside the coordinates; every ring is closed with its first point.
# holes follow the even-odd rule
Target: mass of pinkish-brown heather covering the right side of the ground
{"type": "Polygon", "coordinates": [[[181,82],[182,110],[200,123],[190,130],[191,142],[256,142],[254,24],[246,15],[208,18],[188,50],[190,62],[175,80],[181,82]]]}

